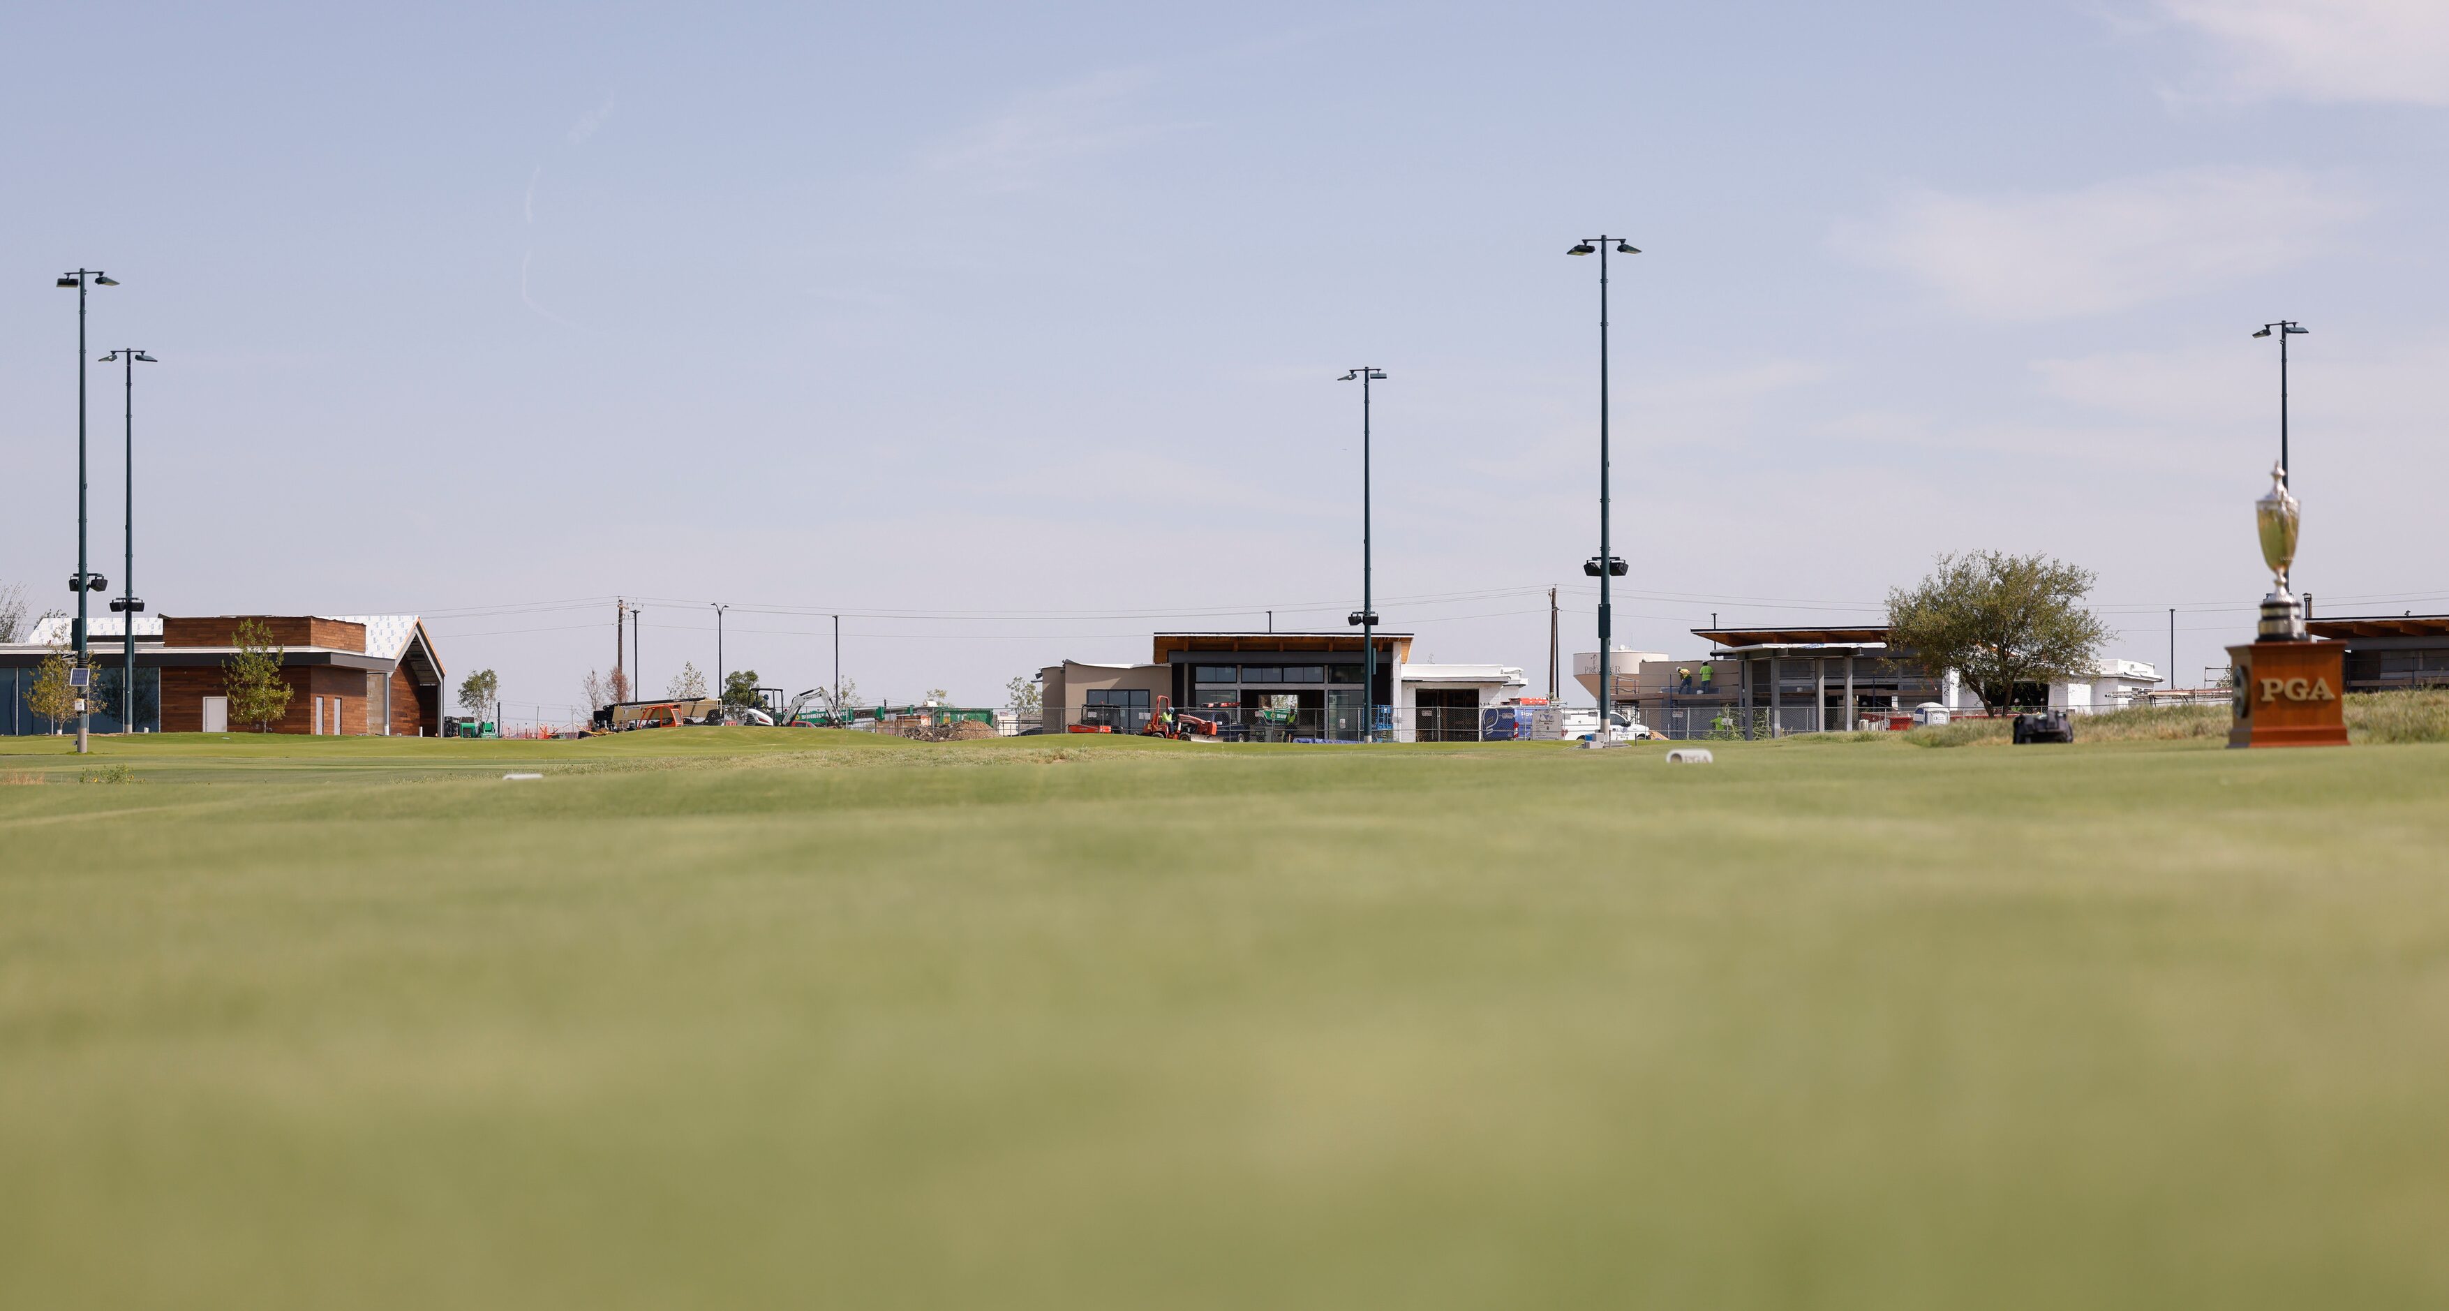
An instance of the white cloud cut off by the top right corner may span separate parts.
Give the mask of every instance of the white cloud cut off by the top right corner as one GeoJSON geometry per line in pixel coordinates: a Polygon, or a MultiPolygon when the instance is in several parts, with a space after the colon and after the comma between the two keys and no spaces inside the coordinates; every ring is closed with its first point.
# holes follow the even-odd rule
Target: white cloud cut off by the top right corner
{"type": "Polygon", "coordinates": [[[2444,0],[2160,0],[2226,96],[2449,105],[2444,0]]]}

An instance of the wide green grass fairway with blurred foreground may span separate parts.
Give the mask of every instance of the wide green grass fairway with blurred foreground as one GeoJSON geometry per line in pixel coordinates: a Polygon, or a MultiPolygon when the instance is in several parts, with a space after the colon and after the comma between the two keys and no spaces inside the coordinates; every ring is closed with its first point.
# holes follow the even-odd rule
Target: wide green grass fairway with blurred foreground
{"type": "Polygon", "coordinates": [[[2449,1304],[2449,745],[64,750],[7,1309],[2449,1304]]]}

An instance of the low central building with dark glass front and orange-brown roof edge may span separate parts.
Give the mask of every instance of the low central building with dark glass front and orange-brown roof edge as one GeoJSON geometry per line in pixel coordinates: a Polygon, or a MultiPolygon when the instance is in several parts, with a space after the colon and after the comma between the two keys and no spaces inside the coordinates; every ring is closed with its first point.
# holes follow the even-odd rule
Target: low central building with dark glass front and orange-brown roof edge
{"type": "Polygon", "coordinates": [[[1146,664],[1048,664],[1041,723],[1139,733],[1166,701],[1254,740],[1357,742],[1376,706],[1379,738],[1477,740],[1487,711],[1521,706],[1521,669],[1413,662],[1411,644],[1408,632],[1376,635],[1371,696],[1359,632],[1158,632],[1146,664]]]}

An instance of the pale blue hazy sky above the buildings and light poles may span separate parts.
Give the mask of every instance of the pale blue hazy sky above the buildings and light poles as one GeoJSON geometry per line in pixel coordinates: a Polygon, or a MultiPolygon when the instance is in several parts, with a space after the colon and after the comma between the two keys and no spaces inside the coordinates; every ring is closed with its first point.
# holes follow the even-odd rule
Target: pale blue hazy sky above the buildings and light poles
{"type": "MultiPolygon", "coordinates": [[[[1592,649],[1614,262],[1626,644],[1873,618],[1930,556],[2099,571],[2113,654],[2251,632],[2300,319],[2300,586],[2449,605],[2449,10],[17,7],[0,578],[66,600],[73,294],[142,346],[157,613],[433,615],[571,703],[644,669],[999,701],[1153,627],[1592,649]]],[[[93,370],[118,576],[120,392],[93,370]]]]}

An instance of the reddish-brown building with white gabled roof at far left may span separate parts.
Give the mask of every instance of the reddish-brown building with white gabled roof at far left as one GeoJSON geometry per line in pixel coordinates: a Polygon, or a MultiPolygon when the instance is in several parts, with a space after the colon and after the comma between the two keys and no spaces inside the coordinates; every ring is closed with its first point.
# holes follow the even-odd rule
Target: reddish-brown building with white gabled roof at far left
{"type": "MultiPolygon", "coordinates": [[[[238,625],[260,622],[282,652],[289,708],[272,733],[397,735],[441,733],[443,667],[416,615],[137,615],[137,733],[223,733],[230,723],[225,664],[238,654],[238,625]]],[[[118,615],[88,620],[96,667],[93,730],[120,733],[125,630],[118,615]]],[[[69,640],[69,620],[34,625],[29,642],[0,644],[7,713],[0,733],[49,733],[27,703],[42,662],[69,640]]]]}

